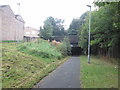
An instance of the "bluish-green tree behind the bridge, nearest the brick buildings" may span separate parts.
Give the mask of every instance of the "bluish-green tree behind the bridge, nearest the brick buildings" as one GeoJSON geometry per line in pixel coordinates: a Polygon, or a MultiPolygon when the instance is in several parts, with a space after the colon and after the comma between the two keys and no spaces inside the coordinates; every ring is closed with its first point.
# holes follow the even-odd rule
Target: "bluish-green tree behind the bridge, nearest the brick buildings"
{"type": "Polygon", "coordinates": [[[64,20],[57,19],[53,17],[48,17],[45,22],[43,28],[40,27],[40,34],[43,39],[50,39],[52,36],[64,36],[66,34],[64,30],[64,20]]]}

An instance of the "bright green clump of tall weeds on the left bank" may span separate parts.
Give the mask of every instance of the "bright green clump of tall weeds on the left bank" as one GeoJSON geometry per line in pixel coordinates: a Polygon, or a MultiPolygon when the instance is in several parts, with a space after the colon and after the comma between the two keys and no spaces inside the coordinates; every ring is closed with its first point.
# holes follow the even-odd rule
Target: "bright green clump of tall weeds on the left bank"
{"type": "Polygon", "coordinates": [[[29,53],[30,55],[35,55],[43,58],[61,58],[61,53],[56,49],[56,47],[52,46],[48,41],[41,40],[34,42],[27,42],[19,47],[20,51],[25,53],[29,53]]]}

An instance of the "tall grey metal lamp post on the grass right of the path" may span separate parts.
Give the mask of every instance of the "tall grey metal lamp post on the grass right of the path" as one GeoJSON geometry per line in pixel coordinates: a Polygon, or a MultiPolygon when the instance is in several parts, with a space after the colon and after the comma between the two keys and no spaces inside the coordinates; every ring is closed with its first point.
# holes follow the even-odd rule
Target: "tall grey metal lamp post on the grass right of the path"
{"type": "Polygon", "coordinates": [[[91,21],[91,6],[87,5],[90,8],[89,11],[89,32],[88,32],[88,64],[90,64],[90,21],[91,21]]]}

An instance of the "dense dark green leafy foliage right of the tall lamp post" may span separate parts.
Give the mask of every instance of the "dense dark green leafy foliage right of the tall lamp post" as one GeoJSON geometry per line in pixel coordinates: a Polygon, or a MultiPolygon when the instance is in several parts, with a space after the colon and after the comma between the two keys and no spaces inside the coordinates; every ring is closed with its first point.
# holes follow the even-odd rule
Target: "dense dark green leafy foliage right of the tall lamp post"
{"type": "Polygon", "coordinates": [[[118,3],[105,4],[92,16],[93,44],[99,43],[101,48],[118,45],[120,40],[118,3]]]}

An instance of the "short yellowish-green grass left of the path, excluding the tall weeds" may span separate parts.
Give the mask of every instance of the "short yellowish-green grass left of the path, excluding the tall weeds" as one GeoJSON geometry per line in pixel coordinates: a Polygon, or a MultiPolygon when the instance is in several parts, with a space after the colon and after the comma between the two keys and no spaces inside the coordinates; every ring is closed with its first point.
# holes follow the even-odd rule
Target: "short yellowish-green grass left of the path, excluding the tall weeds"
{"type": "Polygon", "coordinates": [[[48,75],[62,62],[63,58],[43,58],[18,50],[19,44],[2,45],[2,87],[32,88],[39,80],[48,75]]]}

